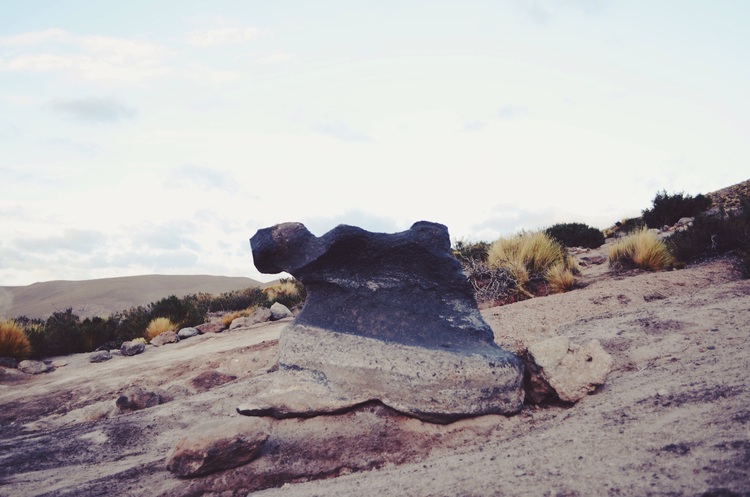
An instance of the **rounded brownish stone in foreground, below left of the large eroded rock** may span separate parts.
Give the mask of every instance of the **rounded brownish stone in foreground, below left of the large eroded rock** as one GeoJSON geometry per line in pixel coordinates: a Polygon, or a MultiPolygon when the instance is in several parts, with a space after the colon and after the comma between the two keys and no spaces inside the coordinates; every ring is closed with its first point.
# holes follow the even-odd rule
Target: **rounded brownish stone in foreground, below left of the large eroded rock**
{"type": "Polygon", "coordinates": [[[195,427],[167,456],[167,469],[181,477],[236,468],[255,459],[271,433],[261,418],[216,419],[195,427]]]}

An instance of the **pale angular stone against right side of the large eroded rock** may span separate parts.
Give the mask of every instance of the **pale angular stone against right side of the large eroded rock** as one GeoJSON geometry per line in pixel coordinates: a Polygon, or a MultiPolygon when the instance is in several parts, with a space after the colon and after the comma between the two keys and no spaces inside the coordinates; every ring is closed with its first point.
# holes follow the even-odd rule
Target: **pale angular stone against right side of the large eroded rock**
{"type": "Polygon", "coordinates": [[[541,403],[555,395],[564,402],[578,402],[603,385],[612,370],[612,357],[598,340],[583,346],[567,337],[554,337],[527,349],[527,399],[541,403]]]}

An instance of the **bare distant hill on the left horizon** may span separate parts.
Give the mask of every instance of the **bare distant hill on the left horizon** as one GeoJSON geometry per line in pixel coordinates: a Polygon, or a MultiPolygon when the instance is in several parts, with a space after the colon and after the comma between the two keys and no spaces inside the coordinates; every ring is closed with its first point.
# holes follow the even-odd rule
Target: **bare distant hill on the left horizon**
{"type": "Polygon", "coordinates": [[[266,286],[251,278],[229,276],[145,275],[83,281],[46,281],[28,286],[0,286],[0,317],[45,318],[72,308],[84,317],[106,317],[164,297],[197,293],[218,295],[266,286]]]}

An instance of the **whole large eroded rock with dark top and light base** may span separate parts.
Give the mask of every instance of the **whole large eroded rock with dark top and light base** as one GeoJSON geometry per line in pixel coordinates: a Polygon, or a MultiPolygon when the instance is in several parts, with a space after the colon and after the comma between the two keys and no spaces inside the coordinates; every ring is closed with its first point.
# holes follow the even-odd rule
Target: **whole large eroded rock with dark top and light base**
{"type": "Polygon", "coordinates": [[[307,298],[282,331],[273,384],[241,413],[312,416],[379,400],[447,422],[521,408],[522,362],[495,344],[445,226],[342,225],[316,237],[284,223],[250,241],[256,267],[294,275],[307,298]]]}

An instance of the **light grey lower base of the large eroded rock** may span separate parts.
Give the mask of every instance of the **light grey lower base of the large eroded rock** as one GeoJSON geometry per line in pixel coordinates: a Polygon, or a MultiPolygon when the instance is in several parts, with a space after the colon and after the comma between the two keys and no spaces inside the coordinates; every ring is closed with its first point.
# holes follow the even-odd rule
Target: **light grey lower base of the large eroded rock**
{"type": "Polygon", "coordinates": [[[279,341],[269,388],[238,407],[250,416],[310,417],[380,401],[435,423],[513,414],[524,400],[523,366],[486,345],[426,348],[292,324],[279,341]]]}

